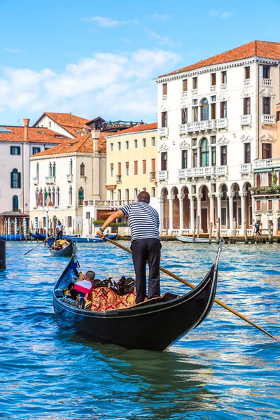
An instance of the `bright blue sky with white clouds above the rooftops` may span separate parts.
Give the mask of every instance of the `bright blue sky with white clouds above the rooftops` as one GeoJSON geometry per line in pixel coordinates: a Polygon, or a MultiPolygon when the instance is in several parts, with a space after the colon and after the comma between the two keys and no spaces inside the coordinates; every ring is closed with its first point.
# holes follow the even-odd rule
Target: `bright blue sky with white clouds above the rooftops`
{"type": "Polygon", "coordinates": [[[280,42],[280,0],[0,0],[0,125],[43,112],[157,118],[160,74],[280,42]]]}

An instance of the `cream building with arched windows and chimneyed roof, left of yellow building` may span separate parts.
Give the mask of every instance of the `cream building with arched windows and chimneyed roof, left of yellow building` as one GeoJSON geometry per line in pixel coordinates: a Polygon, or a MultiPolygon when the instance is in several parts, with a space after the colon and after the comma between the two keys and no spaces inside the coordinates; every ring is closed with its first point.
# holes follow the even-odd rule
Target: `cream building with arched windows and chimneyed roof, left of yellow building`
{"type": "Polygon", "coordinates": [[[31,157],[30,220],[39,230],[55,228],[59,219],[67,234],[83,233],[83,201],[106,199],[106,141],[97,130],[83,130],[72,141],[31,157]],[[53,204],[45,206],[48,193],[53,204]],[[41,204],[41,205],[40,205],[41,204]],[[47,213],[48,211],[48,218],[47,213]]]}

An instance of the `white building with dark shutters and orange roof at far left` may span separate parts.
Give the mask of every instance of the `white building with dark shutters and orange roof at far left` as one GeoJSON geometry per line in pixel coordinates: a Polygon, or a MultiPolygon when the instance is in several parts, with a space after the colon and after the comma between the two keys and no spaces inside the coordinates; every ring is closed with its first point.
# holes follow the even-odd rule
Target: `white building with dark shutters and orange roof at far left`
{"type": "Polygon", "coordinates": [[[2,125],[0,127],[0,213],[29,213],[30,157],[57,146],[67,137],[48,128],[2,125]]]}

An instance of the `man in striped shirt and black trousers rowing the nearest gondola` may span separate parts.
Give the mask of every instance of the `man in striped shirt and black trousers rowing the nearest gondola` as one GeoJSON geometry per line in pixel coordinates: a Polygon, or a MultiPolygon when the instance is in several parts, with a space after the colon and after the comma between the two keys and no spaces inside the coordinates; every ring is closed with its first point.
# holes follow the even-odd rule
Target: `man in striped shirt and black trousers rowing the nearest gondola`
{"type": "Polygon", "coordinates": [[[136,275],[136,303],[146,297],[146,262],[148,261],[148,299],[160,296],[160,218],[158,211],[150,206],[150,194],[141,191],[137,202],[127,204],[115,211],[97,231],[104,237],[104,230],[117,218],[129,216],[132,235],[132,260],[136,275]]]}

